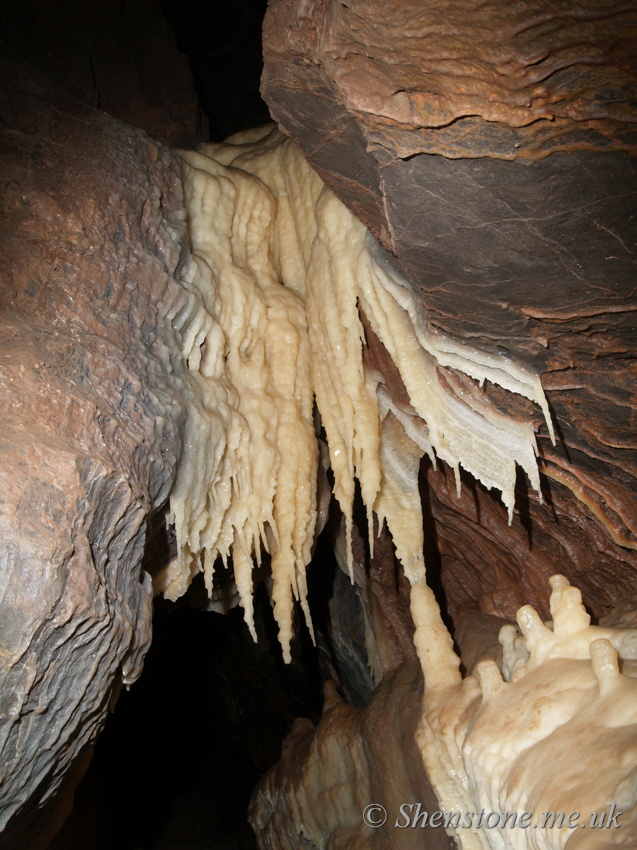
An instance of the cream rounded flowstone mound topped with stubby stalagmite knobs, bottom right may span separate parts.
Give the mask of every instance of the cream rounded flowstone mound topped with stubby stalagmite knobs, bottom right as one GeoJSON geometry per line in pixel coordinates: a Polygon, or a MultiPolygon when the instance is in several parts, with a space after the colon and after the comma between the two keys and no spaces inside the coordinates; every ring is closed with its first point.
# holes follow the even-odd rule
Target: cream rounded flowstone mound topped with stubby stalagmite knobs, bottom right
{"type": "MultiPolygon", "coordinates": [[[[416,740],[441,806],[474,825],[500,813],[490,829],[448,830],[463,850],[637,846],[637,630],[591,626],[580,592],[550,584],[552,623],[521,608],[520,631],[500,632],[502,671],[482,660],[462,681],[426,678],[416,740]],[[611,810],[621,826],[600,827],[611,810]]],[[[425,651],[425,627],[416,639],[425,651]]]]}

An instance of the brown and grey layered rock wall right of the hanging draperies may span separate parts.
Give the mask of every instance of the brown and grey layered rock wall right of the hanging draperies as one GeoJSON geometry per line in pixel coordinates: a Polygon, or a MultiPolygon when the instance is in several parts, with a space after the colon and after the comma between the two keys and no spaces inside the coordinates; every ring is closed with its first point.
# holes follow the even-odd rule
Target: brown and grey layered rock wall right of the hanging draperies
{"type": "Polygon", "coordinates": [[[426,319],[543,374],[543,506],[520,479],[508,527],[471,479],[458,499],[449,470],[426,472],[450,615],[547,615],[555,569],[601,615],[637,587],[637,18],[505,5],[278,0],[262,93],[426,319]]]}

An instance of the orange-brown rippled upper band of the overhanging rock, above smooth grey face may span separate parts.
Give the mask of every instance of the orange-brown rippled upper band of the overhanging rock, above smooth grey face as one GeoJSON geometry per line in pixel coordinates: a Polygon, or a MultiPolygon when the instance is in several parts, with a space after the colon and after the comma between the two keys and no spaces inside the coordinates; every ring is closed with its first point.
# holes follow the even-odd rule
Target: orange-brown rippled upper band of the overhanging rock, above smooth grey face
{"type": "MultiPolygon", "coordinates": [[[[634,151],[636,33],[634,3],[608,0],[273,0],[262,90],[299,129],[335,106],[403,159],[634,151]],[[321,108],[298,111],[302,92],[321,108]]],[[[347,121],[326,131],[355,135],[347,121]]]]}

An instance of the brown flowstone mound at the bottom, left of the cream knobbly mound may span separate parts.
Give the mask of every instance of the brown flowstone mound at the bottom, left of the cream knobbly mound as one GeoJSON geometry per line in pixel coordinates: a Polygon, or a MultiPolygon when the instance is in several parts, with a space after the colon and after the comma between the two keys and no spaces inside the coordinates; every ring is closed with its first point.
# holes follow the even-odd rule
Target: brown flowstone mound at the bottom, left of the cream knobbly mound
{"type": "MultiPolygon", "coordinates": [[[[347,706],[334,686],[325,688],[323,716],[314,730],[297,720],[281,760],[257,789],[251,822],[261,847],[426,847],[450,850],[444,830],[365,826],[372,803],[397,813],[418,800],[436,811],[437,799],[422,764],[413,757],[420,717],[422,677],[416,661],[404,661],[375,690],[364,709],[347,706]]],[[[375,810],[379,817],[380,810],[375,810]]]]}

